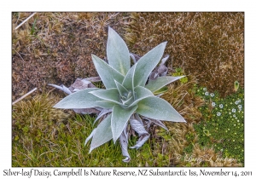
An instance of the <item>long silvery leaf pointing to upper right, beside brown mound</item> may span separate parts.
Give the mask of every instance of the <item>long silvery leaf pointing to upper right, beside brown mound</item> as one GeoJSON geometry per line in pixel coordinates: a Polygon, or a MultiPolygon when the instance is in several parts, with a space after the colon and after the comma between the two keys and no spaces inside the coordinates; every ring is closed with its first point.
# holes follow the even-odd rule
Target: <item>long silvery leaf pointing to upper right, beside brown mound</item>
{"type": "Polygon", "coordinates": [[[154,70],[154,67],[159,63],[164,50],[166,42],[160,43],[154,49],[151,49],[146,55],[137,61],[137,66],[134,75],[134,87],[144,86],[147,82],[149,74],[154,70]]]}

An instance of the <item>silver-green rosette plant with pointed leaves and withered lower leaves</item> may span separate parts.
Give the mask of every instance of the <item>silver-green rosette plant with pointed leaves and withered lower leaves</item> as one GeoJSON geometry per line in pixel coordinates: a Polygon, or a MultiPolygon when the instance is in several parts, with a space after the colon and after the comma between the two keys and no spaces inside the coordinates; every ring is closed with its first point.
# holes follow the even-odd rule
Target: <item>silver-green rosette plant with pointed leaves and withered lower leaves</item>
{"type": "Polygon", "coordinates": [[[63,109],[96,108],[101,112],[96,118],[96,121],[102,119],[100,124],[85,141],[86,144],[92,138],[90,152],[111,139],[114,143],[119,139],[125,156],[123,161],[129,162],[127,147],[131,130],[135,130],[140,136],[136,145],[131,148],[139,148],[149,137],[143,125],[154,123],[167,130],[160,120],[185,122],[170,103],[159,97],[166,84],[183,78],[165,76],[164,63],[167,57],[156,67],[165,48],[166,42],[160,43],[138,61],[132,58],[134,64],[131,66],[132,55],[124,40],[112,28],[108,28],[108,63],[92,55],[96,71],[106,89],[95,87],[78,90],[54,106],[63,109]],[[155,96],[154,92],[159,95],[155,96]]]}

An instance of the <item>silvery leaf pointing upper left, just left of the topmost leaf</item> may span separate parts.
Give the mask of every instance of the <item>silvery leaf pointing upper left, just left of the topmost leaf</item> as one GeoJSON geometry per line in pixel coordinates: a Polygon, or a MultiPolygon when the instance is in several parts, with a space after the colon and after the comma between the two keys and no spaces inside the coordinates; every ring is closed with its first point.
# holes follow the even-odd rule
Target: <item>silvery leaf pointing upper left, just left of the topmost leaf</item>
{"type": "Polygon", "coordinates": [[[116,71],[112,66],[109,66],[108,63],[102,61],[102,59],[100,59],[96,55],[91,55],[91,57],[94,66],[96,67],[96,71],[102,79],[102,82],[105,85],[106,89],[116,87],[114,80],[116,80],[120,84],[123,82],[125,77],[120,72],[116,71]]]}

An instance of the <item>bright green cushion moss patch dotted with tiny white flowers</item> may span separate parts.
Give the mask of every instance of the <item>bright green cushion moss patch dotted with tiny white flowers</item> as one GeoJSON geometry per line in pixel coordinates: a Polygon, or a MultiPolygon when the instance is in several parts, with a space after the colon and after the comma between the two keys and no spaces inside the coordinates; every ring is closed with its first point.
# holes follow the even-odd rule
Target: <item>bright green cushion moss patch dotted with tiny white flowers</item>
{"type": "Polygon", "coordinates": [[[206,105],[200,108],[204,120],[194,125],[199,144],[201,147],[213,146],[216,152],[222,153],[223,158],[244,163],[243,89],[224,99],[207,92],[206,88],[197,90],[197,95],[206,101],[206,105]]]}

